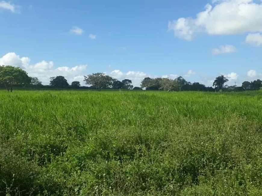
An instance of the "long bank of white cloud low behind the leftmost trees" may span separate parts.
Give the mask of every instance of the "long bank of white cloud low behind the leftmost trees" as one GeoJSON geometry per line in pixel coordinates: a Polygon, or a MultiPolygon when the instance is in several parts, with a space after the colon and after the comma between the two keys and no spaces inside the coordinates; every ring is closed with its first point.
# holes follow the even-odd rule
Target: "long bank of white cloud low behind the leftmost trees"
{"type": "Polygon", "coordinates": [[[4,55],[0,58],[0,65],[20,67],[25,70],[29,76],[38,77],[43,84],[49,84],[50,77],[62,75],[67,79],[68,83],[76,79],[81,79],[79,82],[83,85],[83,71],[87,68],[87,65],[78,65],[71,68],[67,66],[55,68],[54,62],[52,61],[40,61],[36,64],[30,64],[29,57],[20,57],[16,53],[7,53],[4,55]]]}

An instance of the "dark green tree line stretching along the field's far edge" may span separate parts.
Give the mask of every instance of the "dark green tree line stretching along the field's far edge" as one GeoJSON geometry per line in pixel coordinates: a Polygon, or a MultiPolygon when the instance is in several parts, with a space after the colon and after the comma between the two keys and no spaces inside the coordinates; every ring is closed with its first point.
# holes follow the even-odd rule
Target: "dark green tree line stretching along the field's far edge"
{"type": "Polygon", "coordinates": [[[140,87],[133,86],[132,80],[117,80],[114,77],[104,73],[93,73],[84,76],[84,82],[89,86],[81,86],[79,81],[73,81],[71,84],[64,76],[55,76],[50,78],[49,85],[43,85],[37,77],[28,76],[27,72],[21,68],[13,66],[0,66],[0,86],[5,87],[8,91],[13,86],[33,87],[33,88],[56,88],[56,89],[127,89],[127,90],[162,90],[162,91],[244,91],[258,90],[262,87],[262,81],[244,81],[242,86],[225,85],[229,80],[221,75],[216,77],[213,86],[186,81],[182,76],[175,79],[170,78],[150,78],[145,77],[141,81],[140,87]]]}

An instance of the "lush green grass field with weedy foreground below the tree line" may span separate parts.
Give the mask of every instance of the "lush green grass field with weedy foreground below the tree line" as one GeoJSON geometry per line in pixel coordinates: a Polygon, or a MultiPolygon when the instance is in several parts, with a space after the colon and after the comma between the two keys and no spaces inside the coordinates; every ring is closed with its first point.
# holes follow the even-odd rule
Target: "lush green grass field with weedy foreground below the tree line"
{"type": "Polygon", "coordinates": [[[262,195],[262,92],[0,91],[0,195],[262,195]]]}

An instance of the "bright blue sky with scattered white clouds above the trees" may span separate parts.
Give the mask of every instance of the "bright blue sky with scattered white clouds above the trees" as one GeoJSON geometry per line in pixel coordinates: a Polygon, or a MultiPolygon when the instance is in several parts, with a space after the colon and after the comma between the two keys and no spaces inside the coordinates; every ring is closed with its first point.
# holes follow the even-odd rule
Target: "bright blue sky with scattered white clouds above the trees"
{"type": "Polygon", "coordinates": [[[0,64],[45,84],[106,72],[136,86],[176,75],[210,86],[220,74],[241,85],[262,73],[260,0],[0,0],[0,24],[0,64]]]}

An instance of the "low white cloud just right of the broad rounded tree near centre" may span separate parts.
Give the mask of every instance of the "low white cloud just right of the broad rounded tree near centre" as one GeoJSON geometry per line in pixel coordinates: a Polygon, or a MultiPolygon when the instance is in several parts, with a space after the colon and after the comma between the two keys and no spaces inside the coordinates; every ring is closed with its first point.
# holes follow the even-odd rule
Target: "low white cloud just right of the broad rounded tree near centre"
{"type": "Polygon", "coordinates": [[[147,74],[140,71],[128,71],[126,73],[123,73],[120,70],[114,70],[109,75],[114,78],[117,78],[117,80],[124,80],[124,79],[132,80],[133,86],[140,86],[141,81],[145,77],[148,77],[147,74]]]}

